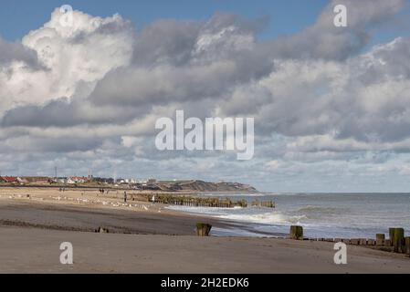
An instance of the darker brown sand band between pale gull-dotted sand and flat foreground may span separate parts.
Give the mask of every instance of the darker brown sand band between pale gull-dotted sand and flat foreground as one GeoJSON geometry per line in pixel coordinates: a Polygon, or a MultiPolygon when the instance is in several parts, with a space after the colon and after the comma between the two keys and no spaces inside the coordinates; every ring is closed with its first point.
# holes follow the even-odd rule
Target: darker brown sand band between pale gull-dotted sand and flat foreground
{"type": "MultiPolygon", "coordinates": [[[[223,225],[212,219],[204,220],[223,225]]],[[[102,227],[110,233],[194,235],[195,224],[204,220],[166,211],[131,212],[48,203],[0,202],[0,225],[40,229],[93,232],[102,227]]]]}

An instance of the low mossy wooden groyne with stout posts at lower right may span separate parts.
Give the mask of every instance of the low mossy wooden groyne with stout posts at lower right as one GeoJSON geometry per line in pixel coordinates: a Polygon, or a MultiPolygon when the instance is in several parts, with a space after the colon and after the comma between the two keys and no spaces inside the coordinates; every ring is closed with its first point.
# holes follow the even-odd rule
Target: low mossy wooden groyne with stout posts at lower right
{"type": "Polygon", "coordinates": [[[410,256],[410,236],[405,236],[404,228],[389,228],[388,238],[385,234],[377,234],[375,238],[309,238],[303,236],[302,226],[290,226],[289,238],[294,240],[343,243],[345,245],[363,245],[386,252],[410,256]]]}

